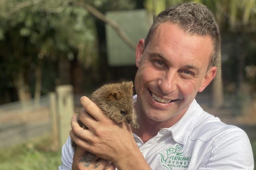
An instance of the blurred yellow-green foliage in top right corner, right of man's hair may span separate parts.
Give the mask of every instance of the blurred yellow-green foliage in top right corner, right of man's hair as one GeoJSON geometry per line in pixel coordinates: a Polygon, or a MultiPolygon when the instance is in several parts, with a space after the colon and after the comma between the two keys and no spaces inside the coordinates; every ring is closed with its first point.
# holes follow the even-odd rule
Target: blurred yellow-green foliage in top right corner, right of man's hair
{"type": "Polygon", "coordinates": [[[255,0],[192,0],[191,2],[206,5],[215,14],[222,30],[255,31],[255,0]]]}

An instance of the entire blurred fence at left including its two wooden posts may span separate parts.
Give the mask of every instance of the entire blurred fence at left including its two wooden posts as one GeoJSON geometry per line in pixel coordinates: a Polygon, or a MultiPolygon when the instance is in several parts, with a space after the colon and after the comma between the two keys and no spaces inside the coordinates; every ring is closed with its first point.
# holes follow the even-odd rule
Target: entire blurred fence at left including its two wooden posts
{"type": "Polygon", "coordinates": [[[0,105],[0,147],[8,147],[51,134],[62,146],[71,129],[74,112],[72,86],[56,88],[56,93],[41,96],[40,101],[0,105]]]}

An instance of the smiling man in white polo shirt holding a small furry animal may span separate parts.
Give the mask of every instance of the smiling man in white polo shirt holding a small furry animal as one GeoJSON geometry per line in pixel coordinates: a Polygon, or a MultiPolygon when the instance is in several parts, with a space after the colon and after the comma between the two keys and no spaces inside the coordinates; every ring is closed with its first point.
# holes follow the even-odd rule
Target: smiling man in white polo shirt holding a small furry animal
{"type": "Polygon", "coordinates": [[[219,47],[217,24],[205,6],[183,4],[161,12],[136,50],[140,128],[116,124],[82,97],[80,119],[89,129],[72,117],[70,136],[79,147],[73,156],[67,140],[60,169],[252,170],[246,133],[195,101],[216,74],[219,47]]]}

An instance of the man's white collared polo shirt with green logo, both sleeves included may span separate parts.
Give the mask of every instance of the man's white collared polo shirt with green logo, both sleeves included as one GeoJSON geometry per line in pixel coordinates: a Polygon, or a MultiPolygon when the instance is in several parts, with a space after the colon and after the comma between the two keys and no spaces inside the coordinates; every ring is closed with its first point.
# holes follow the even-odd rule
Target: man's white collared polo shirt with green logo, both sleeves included
{"type": "MultiPolygon", "coordinates": [[[[161,129],[146,143],[133,135],[153,170],[254,169],[252,147],[246,133],[206,113],[195,100],[176,124],[161,129]]],[[[71,170],[72,158],[69,138],[62,148],[59,169],[71,170]]]]}

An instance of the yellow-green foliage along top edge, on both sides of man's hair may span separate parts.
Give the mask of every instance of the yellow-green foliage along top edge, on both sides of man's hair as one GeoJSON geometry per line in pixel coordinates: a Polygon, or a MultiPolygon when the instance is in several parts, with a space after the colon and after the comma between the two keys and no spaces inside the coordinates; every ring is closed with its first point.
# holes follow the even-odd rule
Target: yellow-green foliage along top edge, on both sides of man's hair
{"type": "Polygon", "coordinates": [[[255,0],[146,0],[145,7],[149,12],[157,15],[163,9],[190,2],[207,6],[215,14],[219,26],[223,29],[227,28],[231,31],[255,31],[255,0]]]}

